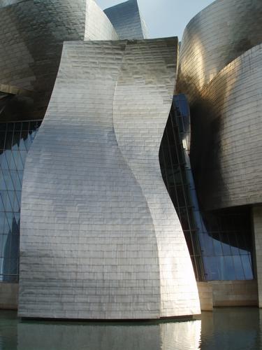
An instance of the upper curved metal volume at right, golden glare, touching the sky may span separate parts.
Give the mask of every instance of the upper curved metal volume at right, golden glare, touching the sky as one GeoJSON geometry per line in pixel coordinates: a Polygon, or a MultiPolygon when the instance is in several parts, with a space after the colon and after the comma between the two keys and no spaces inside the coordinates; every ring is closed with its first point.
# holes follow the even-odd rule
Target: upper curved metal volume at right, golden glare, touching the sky
{"type": "Polygon", "coordinates": [[[261,0],[217,0],[184,30],[177,93],[193,106],[205,85],[233,59],[262,42],[261,0]]]}

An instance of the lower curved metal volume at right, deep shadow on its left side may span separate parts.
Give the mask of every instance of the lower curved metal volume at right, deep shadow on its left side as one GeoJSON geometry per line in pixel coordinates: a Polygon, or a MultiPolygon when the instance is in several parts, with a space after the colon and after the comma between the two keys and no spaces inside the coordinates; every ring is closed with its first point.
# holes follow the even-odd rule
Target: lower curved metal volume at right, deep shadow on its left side
{"type": "Polygon", "coordinates": [[[206,209],[262,202],[261,62],[262,45],[235,59],[203,90],[195,109],[193,159],[206,209]]]}

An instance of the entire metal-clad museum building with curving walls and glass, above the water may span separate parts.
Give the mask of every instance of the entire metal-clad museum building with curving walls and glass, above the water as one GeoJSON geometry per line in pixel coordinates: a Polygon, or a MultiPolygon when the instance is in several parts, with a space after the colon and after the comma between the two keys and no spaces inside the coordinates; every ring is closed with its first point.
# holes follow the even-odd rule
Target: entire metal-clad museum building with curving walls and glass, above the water
{"type": "Polygon", "coordinates": [[[0,16],[0,307],[262,307],[261,1],[214,1],[180,45],[147,38],[137,0],[0,16]]]}

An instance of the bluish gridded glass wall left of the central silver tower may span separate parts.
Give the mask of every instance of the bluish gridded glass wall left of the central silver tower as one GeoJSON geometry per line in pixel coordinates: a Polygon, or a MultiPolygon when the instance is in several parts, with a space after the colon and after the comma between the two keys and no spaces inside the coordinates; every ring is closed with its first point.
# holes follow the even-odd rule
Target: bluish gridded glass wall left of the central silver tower
{"type": "Polygon", "coordinates": [[[18,281],[24,163],[40,125],[40,120],[0,123],[0,281],[18,281]]]}

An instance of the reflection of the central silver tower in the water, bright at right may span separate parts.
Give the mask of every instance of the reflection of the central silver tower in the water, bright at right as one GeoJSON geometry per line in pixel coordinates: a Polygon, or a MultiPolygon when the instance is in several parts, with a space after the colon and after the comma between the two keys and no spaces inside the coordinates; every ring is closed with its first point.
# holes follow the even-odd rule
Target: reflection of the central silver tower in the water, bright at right
{"type": "Polygon", "coordinates": [[[200,341],[201,321],[95,325],[19,323],[17,329],[19,350],[195,350],[200,341]]]}

